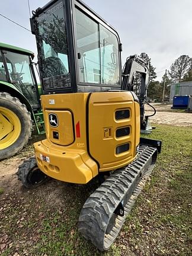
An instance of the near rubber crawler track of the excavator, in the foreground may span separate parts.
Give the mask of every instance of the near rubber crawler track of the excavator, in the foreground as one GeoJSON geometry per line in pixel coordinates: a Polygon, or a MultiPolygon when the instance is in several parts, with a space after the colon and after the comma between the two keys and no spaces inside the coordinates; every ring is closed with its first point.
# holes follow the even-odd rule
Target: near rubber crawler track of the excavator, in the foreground
{"type": "Polygon", "coordinates": [[[140,145],[135,161],[116,170],[85,201],[79,232],[100,251],[110,248],[119,234],[155,166],[156,156],[156,148],[140,145]]]}

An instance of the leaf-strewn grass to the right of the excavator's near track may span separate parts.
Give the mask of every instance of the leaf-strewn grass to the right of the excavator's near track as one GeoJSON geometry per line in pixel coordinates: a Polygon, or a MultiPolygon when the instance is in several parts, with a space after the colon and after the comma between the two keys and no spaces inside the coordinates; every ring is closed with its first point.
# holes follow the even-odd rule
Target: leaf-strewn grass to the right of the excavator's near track
{"type": "Polygon", "coordinates": [[[162,153],[132,217],[127,219],[123,236],[132,233],[129,239],[132,251],[137,239],[143,241],[143,244],[137,242],[138,254],[191,255],[192,129],[158,125],[145,137],[161,139],[162,153]]]}

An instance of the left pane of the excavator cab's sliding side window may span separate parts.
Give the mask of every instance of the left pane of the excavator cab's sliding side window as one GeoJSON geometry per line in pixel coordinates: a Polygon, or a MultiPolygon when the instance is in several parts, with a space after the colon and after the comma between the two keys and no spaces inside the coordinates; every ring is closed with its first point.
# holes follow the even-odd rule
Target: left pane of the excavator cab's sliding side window
{"type": "Polygon", "coordinates": [[[75,14],[79,82],[100,84],[99,26],[78,9],[75,14]]]}

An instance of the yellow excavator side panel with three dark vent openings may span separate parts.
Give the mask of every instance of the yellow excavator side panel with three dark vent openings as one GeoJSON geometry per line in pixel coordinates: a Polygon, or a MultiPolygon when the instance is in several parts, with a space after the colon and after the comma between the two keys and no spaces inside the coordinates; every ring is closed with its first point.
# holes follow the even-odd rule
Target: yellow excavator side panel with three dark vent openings
{"type": "Polygon", "coordinates": [[[135,113],[131,92],[95,92],[89,100],[89,151],[100,164],[100,171],[110,171],[132,162],[136,156],[136,133],[139,113],[135,113]],[[115,113],[129,110],[129,117],[117,120],[115,113]],[[126,136],[117,137],[116,131],[128,127],[126,136]],[[106,134],[107,132],[107,134],[106,134]],[[129,143],[129,150],[116,153],[117,146],[129,143]]]}

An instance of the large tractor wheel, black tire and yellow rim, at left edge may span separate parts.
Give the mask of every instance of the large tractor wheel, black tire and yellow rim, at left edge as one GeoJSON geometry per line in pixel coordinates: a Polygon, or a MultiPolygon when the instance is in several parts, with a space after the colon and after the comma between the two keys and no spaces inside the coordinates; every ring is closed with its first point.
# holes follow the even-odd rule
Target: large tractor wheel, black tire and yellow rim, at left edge
{"type": "Polygon", "coordinates": [[[25,104],[7,92],[0,92],[0,160],[20,152],[33,130],[25,104]]]}

